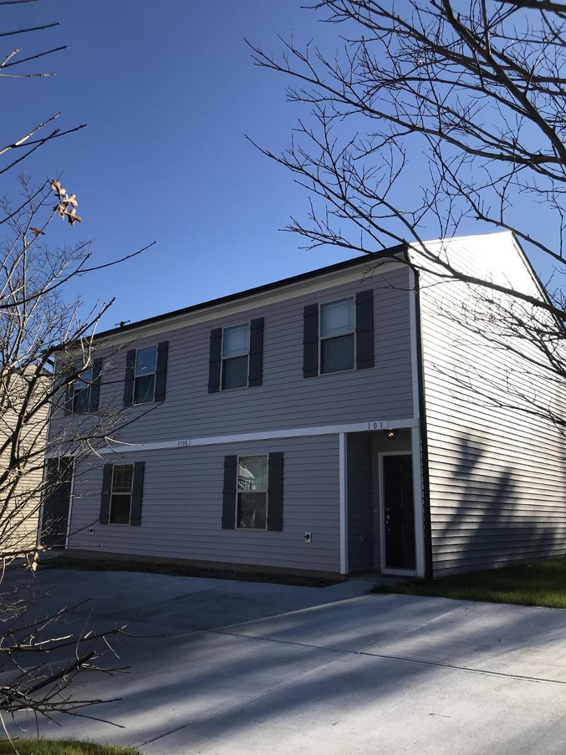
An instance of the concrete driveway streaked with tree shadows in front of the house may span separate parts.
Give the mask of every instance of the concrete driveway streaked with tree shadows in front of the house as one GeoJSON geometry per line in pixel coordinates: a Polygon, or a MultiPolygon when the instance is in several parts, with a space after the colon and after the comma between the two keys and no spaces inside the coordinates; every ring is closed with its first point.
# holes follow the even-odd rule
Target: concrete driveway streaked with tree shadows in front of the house
{"type": "MultiPolygon", "coordinates": [[[[21,575],[15,578],[21,580],[21,575]]],[[[128,619],[120,697],[42,734],[147,755],[478,755],[566,750],[566,611],[131,572],[54,569],[42,610],[128,619]]],[[[69,618],[70,621],[70,618],[69,618]]],[[[33,735],[35,723],[26,727],[33,735]]]]}

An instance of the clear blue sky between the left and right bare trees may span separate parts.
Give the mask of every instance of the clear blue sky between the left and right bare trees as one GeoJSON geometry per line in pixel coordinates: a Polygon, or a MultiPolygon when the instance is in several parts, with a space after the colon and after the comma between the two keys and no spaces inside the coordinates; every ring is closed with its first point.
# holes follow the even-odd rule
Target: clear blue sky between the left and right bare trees
{"type": "MultiPolygon", "coordinates": [[[[42,0],[2,10],[6,29],[60,21],[2,40],[22,54],[68,45],[27,64],[51,79],[8,79],[5,141],[60,111],[60,126],[88,128],[26,161],[37,180],[63,172],[84,222],[50,230],[55,242],[94,239],[103,262],[153,241],[123,266],[81,280],[88,302],[116,297],[103,326],[136,320],[312,270],[348,255],[304,251],[280,233],[307,196],[284,168],[245,140],[278,151],[304,111],[285,81],[254,66],[244,38],[279,50],[278,33],[334,48],[339,29],[304,0],[42,0]]],[[[418,156],[414,156],[418,164],[418,156]]],[[[15,172],[3,179],[13,188],[15,172]]],[[[49,239],[51,241],[51,239],[49,239]]]]}

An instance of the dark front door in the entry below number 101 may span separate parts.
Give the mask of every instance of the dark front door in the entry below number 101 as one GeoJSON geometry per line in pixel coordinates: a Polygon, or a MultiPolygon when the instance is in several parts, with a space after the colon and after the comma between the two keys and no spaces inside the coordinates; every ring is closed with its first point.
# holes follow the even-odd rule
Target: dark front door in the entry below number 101
{"type": "Polygon", "coordinates": [[[414,569],[414,501],[411,454],[383,456],[385,565],[414,569]]]}

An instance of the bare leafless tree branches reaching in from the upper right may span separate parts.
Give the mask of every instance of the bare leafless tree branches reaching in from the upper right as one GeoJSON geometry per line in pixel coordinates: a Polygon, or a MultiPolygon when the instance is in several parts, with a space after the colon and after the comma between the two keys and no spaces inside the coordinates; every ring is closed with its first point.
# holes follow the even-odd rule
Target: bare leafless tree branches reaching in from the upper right
{"type": "MultiPolygon", "coordinates": [[[[251,45],[306,108],[284,153],[260,147],[310,194],[309,213],[285,230],[307,248],[414,245],[429,285],[473,290],[475,307],[452,301],[445,316],[563,386],[566,4],[320,0],[311,10],[339,29],[335,53],[292,37],[278,54],[251,45]],[[471,230],[512,231],[552,271],[546,291],[482,276],[425,241],[471,230]]],[[[491,399],[503,400],[497,387],[491,399]]],[[[513,400],[564,428],[560,412],[513,400]]]]}

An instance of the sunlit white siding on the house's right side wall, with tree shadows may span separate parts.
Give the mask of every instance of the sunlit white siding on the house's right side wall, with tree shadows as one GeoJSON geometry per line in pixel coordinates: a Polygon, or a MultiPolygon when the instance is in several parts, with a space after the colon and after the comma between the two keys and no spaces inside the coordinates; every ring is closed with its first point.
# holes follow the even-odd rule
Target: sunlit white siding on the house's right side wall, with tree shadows
{"type": "MultiPolygon", "coordinates": [[[[458,269],[537,293],[508,234],[451,242],[458,269]]],[[[478,289],[421,276],[432,559],[435,575],[566,549],[566,449],[535,405],[566,414],[550,374],[497,340],[478,289]],[[479,328],[478,328],[479,325],[479,328]],[[479,331],[479,332],[476,332],[479,331]]],[[[515,306],[506,301],[504,307],[515,306]]]]}

